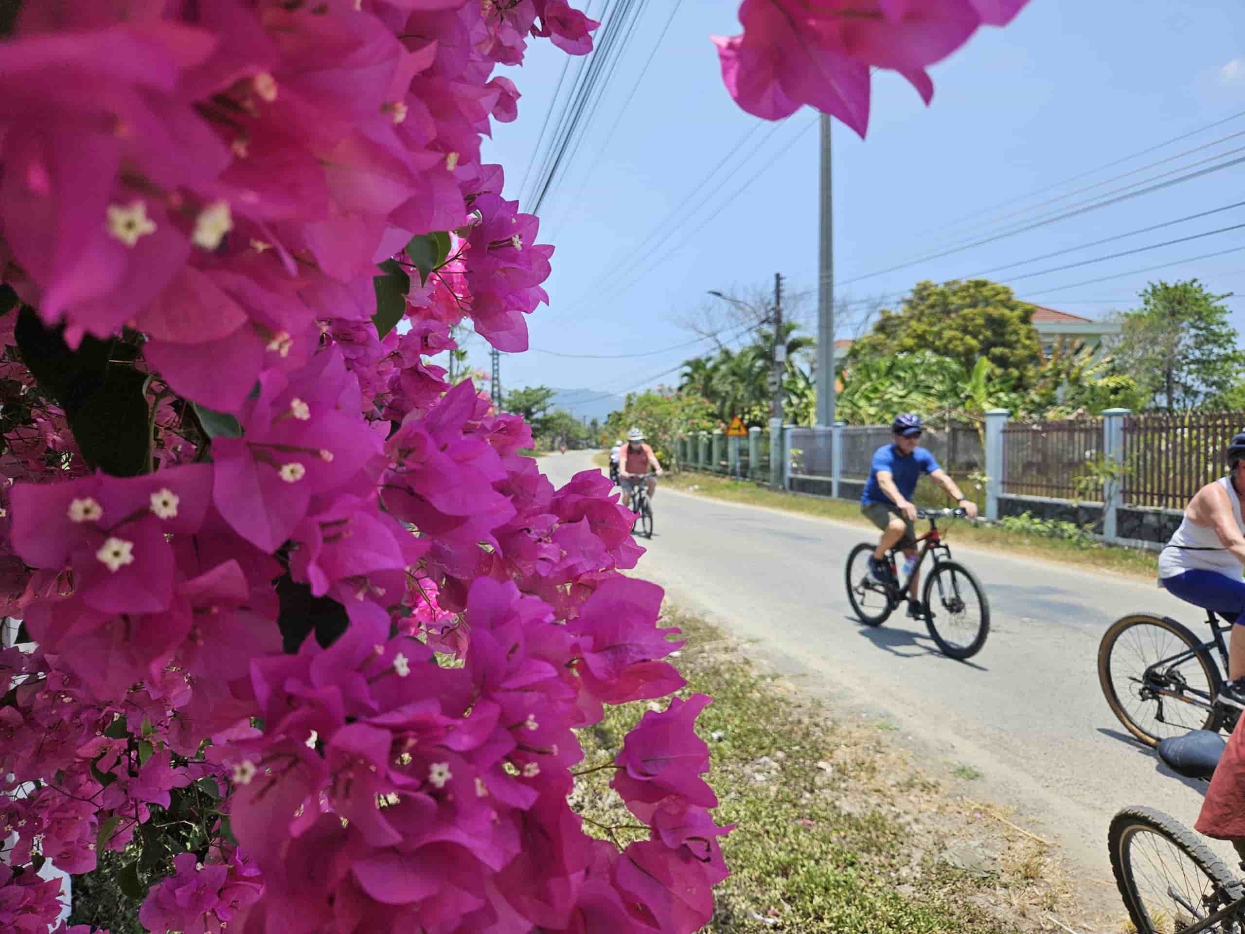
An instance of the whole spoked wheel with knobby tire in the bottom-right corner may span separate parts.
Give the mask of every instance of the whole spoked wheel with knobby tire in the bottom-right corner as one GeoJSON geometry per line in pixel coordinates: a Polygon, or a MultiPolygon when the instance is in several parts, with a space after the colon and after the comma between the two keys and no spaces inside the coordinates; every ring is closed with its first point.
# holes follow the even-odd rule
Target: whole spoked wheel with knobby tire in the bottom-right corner
{"type": "MultiPolygon", "coordinates": [[[[1241,898],[1241,883],[1199,837],[1160,811],[1129,807],[1107,832],[1111,868],[1139,934],[1175,934],[1241,898]]],[[[1241,915],[1208,928],[1243,930],[1241,915]]]]}

